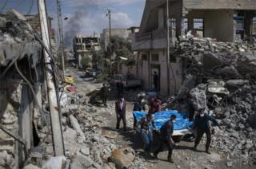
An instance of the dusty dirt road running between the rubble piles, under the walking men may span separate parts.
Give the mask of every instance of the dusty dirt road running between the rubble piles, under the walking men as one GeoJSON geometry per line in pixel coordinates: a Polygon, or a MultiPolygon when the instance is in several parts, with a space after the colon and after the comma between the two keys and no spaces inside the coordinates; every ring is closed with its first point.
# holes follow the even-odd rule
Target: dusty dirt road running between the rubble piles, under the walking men
{"type": "MultiPolygon", "coordinates": [[[[70,74],[74,77],[75,86],[78,89],[78,93],[85,94],[86,92],[90,92],[95,88],[102,87],[102,84],[95,84],[91,79],[83,78],[84,73],[79,72],[78,70],[70,70],[70,74]]],[[[221,152],[217,152],[214,149],[210,149],[211,154],[208,155],[204,152],[205,147],[204,143],[198,147],[199,151],[194,151],[192,147],[194,143],[181,141],[178,143],[178,146],[174,149],[173,159],[174,163],[169,163],[166,161],[167,151],[163,151],[158,155],[158,159],[148,159],[142,153],[142,140],[134,134],[132,131],[133,125],[133,117],[132,117],[132,108],[133,108],[133,100],[138,91],[126,91],[125,97],[127,100],[127,108],[126,108],[126,119],[128,125],[128,132],[122,132],[122,124],[121,129],[116,130],[116,116],[114,112],[114,101],[115,101],[115,91],[110,91],[110,96],[108,98],[107,104],[108,108],[103,108],[102,105],[98,105],[96,107],[98,109],[98,115],[95,118],[98,118],[99,121],[102,121],[102,130],[106,132],[110,132],[112,136],[108,136],[109,139],[113,139],[114,142],[119,147],[133,147],[136,151],[137,155],[145,162],[143,167],[146,168],[158,168],[158,169],[167,169],[167,168],[191,168],[191,169],[214,169],[214,168],[254,168],[253,166],[242,165],[238,166],[234,163],[232,166],[227,167],[226,155],[223,155],[221,152]]]]}

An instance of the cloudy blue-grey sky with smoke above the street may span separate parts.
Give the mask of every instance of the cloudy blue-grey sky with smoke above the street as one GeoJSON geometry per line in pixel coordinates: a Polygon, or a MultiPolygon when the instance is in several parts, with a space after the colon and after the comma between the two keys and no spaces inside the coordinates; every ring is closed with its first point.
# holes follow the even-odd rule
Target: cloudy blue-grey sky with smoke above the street
{"type": "MultiPolygon", "coordinates": [[[[61,0],[64,39],[70,45],[75,34],[87,36],[102,33],[108,28],[106,10],[112,11],[112,28],[140,26],[145,0],[61,0]],[[68,18],[64,20],[64,18],[68,18]]],[[[10,9],[22,14],[37,14],[37,0],[0,0],[0,12],[10,9]]],[[[47,13],[54,18],[53,27],[57,30],[57,0],[46,0],[47,13]]]]}

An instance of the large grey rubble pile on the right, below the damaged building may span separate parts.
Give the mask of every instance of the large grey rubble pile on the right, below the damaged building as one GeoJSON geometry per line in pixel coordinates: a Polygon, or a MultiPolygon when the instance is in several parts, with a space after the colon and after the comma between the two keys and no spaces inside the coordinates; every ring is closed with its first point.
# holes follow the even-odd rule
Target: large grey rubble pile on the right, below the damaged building
{"type": "Polygon", "coordinates": [[[178,98],[206,108],[222,130],[214,128],[213,147],[237,163],[256,162],[256,41],[224,43],[183,38],[176,46],[186,80],[178,98]]]}

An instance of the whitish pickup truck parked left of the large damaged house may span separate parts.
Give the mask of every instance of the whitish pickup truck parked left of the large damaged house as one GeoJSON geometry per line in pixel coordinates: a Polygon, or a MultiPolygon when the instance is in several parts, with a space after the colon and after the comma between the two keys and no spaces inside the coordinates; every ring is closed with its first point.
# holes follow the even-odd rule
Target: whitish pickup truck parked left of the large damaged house
{"type": "Polygon", "coordinates": [[[139,87],[142,85],[142,81],[136,77],[127,77],[123,74],[115,74],[113,77],[112,84],[116,85],[118,81],[122,81],[125,88],[139,87]]]}

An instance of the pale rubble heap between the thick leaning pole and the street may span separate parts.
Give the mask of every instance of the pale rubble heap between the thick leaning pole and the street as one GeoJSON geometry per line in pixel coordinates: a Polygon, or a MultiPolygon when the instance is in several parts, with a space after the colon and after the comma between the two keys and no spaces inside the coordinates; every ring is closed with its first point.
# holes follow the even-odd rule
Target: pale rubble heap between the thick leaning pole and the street
{"type": "MultiPolygon", "coordinates": [[[[111,132],[102,131],[104,119],[98,115],[101,108],[96,109],[87,104],[81,95],[77,97],[68,97],[66,102],[63,102],[65,108],[62,108],[65,110],[62,111],[63,140],[66,157],[70,159],[70,168],[142,168],[142,159],[135,155],[133,149],[116,146],[114,140],[111,140],[114,138],[111,132]]],[[[43,163],[53,166],[58,160],[55,159],[54,162],[50,155],[46,159],[48,161],[43,163]]]]}

